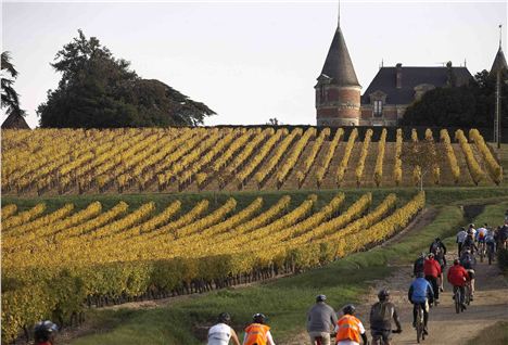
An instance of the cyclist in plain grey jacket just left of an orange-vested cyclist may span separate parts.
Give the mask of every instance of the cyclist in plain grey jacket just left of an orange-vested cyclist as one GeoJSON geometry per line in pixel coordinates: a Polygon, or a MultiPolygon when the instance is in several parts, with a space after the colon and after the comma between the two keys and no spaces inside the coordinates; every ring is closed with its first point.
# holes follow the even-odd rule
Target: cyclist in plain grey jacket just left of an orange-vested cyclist
{"type": "Polygon", "coordinates": [[[310,344],[319,338],[321,345],[330,345],[330,332],[336,324],[338,319],[335,310],[327,305],[325,301],[327,301],[327,296],[317,295],[316,304],[307,312],[307,332],[310,344]]]}

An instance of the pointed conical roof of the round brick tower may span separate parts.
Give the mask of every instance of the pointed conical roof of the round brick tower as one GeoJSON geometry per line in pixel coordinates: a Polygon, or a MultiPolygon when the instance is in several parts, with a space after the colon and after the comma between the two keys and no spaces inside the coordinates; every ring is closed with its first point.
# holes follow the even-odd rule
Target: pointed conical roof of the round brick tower
{"type": "Polygon", "coordinates": [[[328,50],[321,75],[332,78],[331,84],[338,86],[360,86],[340,26],[328,50]]]}

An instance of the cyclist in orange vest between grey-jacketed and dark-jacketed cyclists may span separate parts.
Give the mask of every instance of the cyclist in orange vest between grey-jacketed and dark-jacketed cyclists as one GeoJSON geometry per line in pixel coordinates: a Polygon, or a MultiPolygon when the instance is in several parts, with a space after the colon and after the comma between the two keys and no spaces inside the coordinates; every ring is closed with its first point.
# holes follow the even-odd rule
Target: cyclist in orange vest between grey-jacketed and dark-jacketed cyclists
{"type": "Polygon", "coordinates": [[[356,308],[352,304],[342,308],[344,316],[336,321],[335,325],[336,345],[359,345],[360,336],[364,344],[369,343],[365,334],[364,324],[354,316],[355,311],[356,308]]]}

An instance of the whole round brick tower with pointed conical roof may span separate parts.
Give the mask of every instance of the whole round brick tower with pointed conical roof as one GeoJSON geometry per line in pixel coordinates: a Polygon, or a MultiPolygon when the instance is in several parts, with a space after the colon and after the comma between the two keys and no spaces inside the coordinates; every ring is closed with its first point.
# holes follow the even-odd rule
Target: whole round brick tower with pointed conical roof
{"type": "Polygon", "coordinates": [[[316,117],[318,126],[358,126],[361,86],[338,24],[321,74],[317,78],[316,117]]]}

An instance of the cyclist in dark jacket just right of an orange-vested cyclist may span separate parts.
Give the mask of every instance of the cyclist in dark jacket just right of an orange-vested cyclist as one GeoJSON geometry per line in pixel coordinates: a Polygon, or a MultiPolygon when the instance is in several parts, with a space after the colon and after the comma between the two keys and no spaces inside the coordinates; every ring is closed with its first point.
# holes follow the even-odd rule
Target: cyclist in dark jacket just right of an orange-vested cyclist
{"type": "Polygon", "coordinates": [[[386,289],[378,293],[379,302],[370,308],[370,334],[372,335],[372,343],[379,340],[383,344],[390,345],[392,340],[392,319],[395,321],[397,329],[394,333],[401,333],[401,320],[398,319],[397,309],[395,305],[390,302],[390,291],[386,289]]]}

